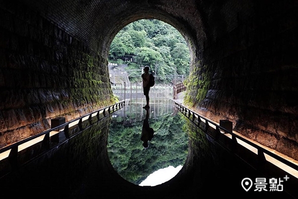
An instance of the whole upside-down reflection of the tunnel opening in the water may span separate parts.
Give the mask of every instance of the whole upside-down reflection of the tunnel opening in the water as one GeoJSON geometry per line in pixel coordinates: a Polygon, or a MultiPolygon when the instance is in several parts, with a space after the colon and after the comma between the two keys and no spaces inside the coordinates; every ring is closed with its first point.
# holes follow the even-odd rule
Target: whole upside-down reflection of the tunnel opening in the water
{"type": "MultiPolygon", "coordinates": [[[[108,156],[111,164],[120,176],[136,185],[160,169],[180,170],[188,154],[184,124],[184,116],[173,104],[151,105],[148,110],[143,109],[142,104],[126,105],[113,114],[110,123],[108,156]]],[[[155,186],[169,180],[169,177],[161,178],[159,175],[157,182],[145,185],[155,186]]]]}

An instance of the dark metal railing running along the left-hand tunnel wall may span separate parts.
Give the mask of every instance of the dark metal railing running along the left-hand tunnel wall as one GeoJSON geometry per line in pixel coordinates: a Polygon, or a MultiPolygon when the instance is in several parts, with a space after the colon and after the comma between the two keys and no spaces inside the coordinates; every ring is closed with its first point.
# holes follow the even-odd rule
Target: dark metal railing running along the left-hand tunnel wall
{"type": "Polygon", "coordinates": [[[41,133],[36,134],[36,135],[33,135],[33,136],[28,137],[28,138],[26,138],[26,139],[20,140],[20,141],[18,141],[18,142],[16,142],[16,143],[13,143],[13,144],[9,145],[9,146],[3,147],[3,148],[0,149],[0,153],[3,153],[3,152],[5,152],[5,151],[8,151],[9,149],[11,149],[11,151],[9,152],[9,156],[11,156],[11,155],[15,155],[15,154],[17,154],[17,152],[18,152],[18,146],[21,145],[21,144],[24,144],[24,143],[26,143],[26,142],[28,142],[28,141],[31,141],[31,140],[33,140],[33,139],[35,139],[35,138],[38,138],[38,137],[42,136],[42,135],[46,135],[46,134],[49,135],[50,132],[55,131],[55,130],[57,130],[57,129],[60,129],[60,128],[62,128],[62,127],[65,127],[65,126],[69,125],[70,123],[73,123],[74,121],[80,120],[80,122],[81,122],[83,117],[86,117],[86,116],[91,117],[92,114],[94,114],[94,113],[99,114],[99,112],[102,111],[102,110],[104,110],[103,112],[105,112],[106,110],[110,111],[110,108],[111,108],[111,107],[114,108],[114,107],[117,107],[117,106],[119,106],[119,105],[123,105],[123,104],[125,104],[125,101],[124,101],[124,100],[122,100],[122,101],[120,101],[120,102],[118,102],[118,103],[115,103],[115,104],[106,106],[106,107],[104,107],[104,108],[101,108],[101,109],[92,111],[92,112],[87,113],[87,114],[85,114],[85,115],[83,115],[83,116],[80,116],[80,117],[75,118],[75,119],[73,119],[73,120],[71,120],[71,121],[68,121],[68,122],[66,122],[66,123],[64,123],[64,124],[61,124],[61,125],[56,126],[56,127],[54,127],[54,128],[48,129],[48,130],[46,130],[46,131],[44,131],[44,132],[41,132],[41,133]]]}

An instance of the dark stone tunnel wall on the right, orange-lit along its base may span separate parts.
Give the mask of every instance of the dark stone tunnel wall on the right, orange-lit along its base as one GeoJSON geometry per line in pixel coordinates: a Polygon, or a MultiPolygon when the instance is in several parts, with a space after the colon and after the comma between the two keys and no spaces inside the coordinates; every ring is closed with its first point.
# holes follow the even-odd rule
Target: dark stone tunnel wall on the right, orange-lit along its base
{"type": "Polygon", "coordinates": [[[298,160],[298,4],[248,2],[198,5],[208,41],[192,67],[186,102],[298,160]]]}

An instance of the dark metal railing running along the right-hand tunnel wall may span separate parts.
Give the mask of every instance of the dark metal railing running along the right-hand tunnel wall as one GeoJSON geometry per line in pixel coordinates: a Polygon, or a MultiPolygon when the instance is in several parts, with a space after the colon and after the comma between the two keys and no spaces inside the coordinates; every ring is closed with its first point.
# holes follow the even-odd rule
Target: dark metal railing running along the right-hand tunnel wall
{"type": "MultiPolygon", "coordinates": [[[[213,125],[216,126],[216,131],[217,131],[217,132],[219,132],[220,129],[222,129],[222,130],[224,130],[225,133],[228,133],[228,134],[232,135],[232,140],[233,140],[233,139],[235,140],[235,138],[238,138],[239,140],[245,142],[246,144],[249,144],[250,146],[253,146],[254,148],[256,148],[256,149],[258,150],[258,154],[257,154],[257,155],[258,155],[258,157],[259,157],[259,160],[262,160],[262,161],[266,160],[265,157],[264,157],[264,153],[266,153],[267,155],[271,156],[272,158],[275,158],[276,160],[278,160],[278,161],[280,161],[280,162],[286,164],[287,166],[289,166],[289,167],[291,167],[291,168],[293,168],[293,169],[295,169],[295,170],[298,171],[298,165],[296,165],[296,164],[294,164],[294,163],[292,163],[292,162],[290,162],[290,161],[288,161],[288,160],[282,158],[281,156],[278,156],[278,155],[272,153],[271,151],[269,151],[269,150],[267,150],[267,149],[265,149],[265,148],[263,148],[263,147],[261,147],[261,146],[255,144],[255,143],[253,143],[253,142],[251,142],[251,141],[249,141],[249,140],[247,140],[247,139],[245,139],[245,138],[243,138],[243,137],[241,137],[241,136],[239,136],[239,135],[237,135],[237,134],[235,134],[235,133],[233,133],[233,132],[231,132],[231,131],[225,129],[224,127],[218,125],[217,123],[211,121],[210,119],[208,119],[208,118],[206,118],[206,117],[204,117],[204,116],[202,116],[202,115],[200,115],[200,114],[194,112],[193,110],[190,110],[189,108],[185,107],[184,105],[182,105],[182,104],[180,104],[180,103],[178,103],[178,102],[176,102],[176,101],[174,101],[174,102],[175,102],[175,105],[176,105],[176,106],[178,106],[180,109],[182,109],[182,111],[184,111],[185,113],[188,112],[188,115],[189,115],[189,116],[192,115],[193,118],[194,118],[195,116],[197,116],[198,119],[200,119],[200,120],[201,120],[201,118],[204,119],[204,120],[205,120],[206,129],[210,126],[209,123],[211,123],[211,124],[213,124],[213,125]]],[[[179,109],[179,110],[180,110],[180,109],[179,109]]],[[[180,111],[181,111],[181,110],[180,110],[180,111]]],[[[182,111],[181,111],[181,112],[182,112],[182,111]]],[[[202,120],[201,120],[201,121],[202,121],[202,120]]],[[[205,130],[206,130],[206,129],[205,129],[205,130]]],[[[205,132],[205,133],[207,133],[207,132],[205,132]]],[[[209,134],[209,133],[208,133],[208,134],[209,134]]],[[[209,135],[210,135],[210,134],[209,134],[209,135]]],[[[211,136],[211,135],[210,135],[210,136],[211,136]]],[[[212,137],[213,137],[213,136],[212,136],[212,137]]]]}

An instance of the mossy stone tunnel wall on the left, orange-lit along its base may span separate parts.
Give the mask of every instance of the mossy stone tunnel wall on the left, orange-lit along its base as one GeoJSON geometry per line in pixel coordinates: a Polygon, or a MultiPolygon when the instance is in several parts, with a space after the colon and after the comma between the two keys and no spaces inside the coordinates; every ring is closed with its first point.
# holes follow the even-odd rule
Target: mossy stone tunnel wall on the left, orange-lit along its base
{"type": "MultiPolygon", "coordinates": [[[[26,6],[0,5],[0,147],[112,103],[107,60],[26,6]]],[[[13,4],[12,4],[13,5],[13,4]]]]}

